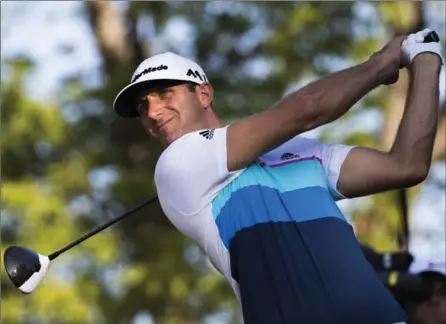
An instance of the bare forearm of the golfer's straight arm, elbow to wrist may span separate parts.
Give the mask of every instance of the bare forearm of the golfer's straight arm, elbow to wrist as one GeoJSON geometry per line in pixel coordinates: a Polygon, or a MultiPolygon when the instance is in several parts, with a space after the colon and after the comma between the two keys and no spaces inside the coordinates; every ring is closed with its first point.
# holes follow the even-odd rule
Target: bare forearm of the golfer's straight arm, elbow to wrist
{"type": "Polygon", "coordinates": [[[329,123],[381,84],[378,67],[378,62],[371,59],[312,82],[285,97],[277,108],[297,121],[298,132],[329,123]]]}

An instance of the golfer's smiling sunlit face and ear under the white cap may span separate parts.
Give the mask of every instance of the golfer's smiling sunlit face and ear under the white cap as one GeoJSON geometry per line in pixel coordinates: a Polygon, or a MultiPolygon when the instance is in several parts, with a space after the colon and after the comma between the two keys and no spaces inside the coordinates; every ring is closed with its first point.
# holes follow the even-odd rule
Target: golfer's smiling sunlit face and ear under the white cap
{"type": "Polygon", "coordinates": [[[144,129],[167,146],[200,129],[211,103],[210,85],[169,81],[142,92],[138,113],[144,129]]]}

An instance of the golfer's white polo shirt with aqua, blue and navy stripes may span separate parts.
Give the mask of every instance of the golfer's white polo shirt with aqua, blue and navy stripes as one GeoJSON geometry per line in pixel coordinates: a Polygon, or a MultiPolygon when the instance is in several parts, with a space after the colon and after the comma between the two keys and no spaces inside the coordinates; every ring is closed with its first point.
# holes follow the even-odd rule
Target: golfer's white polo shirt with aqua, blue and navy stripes
{"type": "Polygon", "coordinates": [[[336,204],[352,147],[298,136],[230,172],[226,130],[172,143],[155,182],[166,216],[226,278],[245,323],[403,323],[336,204]]]}

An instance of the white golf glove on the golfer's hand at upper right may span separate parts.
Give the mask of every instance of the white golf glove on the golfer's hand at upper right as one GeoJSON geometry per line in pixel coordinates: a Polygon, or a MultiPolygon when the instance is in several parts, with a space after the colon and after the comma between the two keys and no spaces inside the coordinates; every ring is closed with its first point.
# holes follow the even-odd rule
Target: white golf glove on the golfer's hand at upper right
{"type": "Polygon", "coordinates": [[[403,50],[404,56],[406,58],[405,65],[409,65],[412,60],[418,54],[424,52],[435,53],[441,58],[441,64],[444,65],[444,55],[443,49],[439,42],[430,42],[424,43],[424,38],[431,32],[432,30],[426,28],[422,31],[419,31],[415,34],[410,34],[401,44],[401,49],[403,50]]]}

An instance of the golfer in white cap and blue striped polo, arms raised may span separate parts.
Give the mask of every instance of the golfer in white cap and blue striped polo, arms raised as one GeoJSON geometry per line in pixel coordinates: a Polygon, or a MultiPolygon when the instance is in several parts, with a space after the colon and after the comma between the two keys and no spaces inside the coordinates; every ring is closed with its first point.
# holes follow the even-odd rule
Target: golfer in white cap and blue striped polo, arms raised
{"type": "Polygon", "coordinates": [[[428,32],[231,125],[215,114],[201,67],[173,53],[142,62],[116,97],[117,114],[139,117],[166,146],[155,170],[161,206],[230,283],[245,323],[404,322],[335,201],[426,177],[441,68],[439,44],[422,43],[428,32]],[[401,64],[411,91],[390,152],[297,136],[396,82],[401,64]]]}

